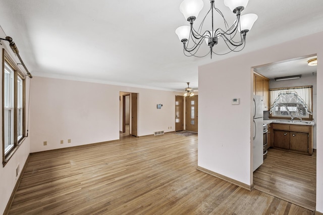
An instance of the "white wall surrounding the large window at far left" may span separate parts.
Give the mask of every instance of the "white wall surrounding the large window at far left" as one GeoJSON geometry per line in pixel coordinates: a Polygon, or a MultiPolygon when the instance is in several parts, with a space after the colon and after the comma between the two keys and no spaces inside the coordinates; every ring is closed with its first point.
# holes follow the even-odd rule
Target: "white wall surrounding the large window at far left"
{"type": "MultiPolygon", "coordinates": [[[[6,35],[2,30],[0,30],[0,37],[4,38],[6,35]]],[[[12,57],[12,59],[18,63],[19,60],[17,57],[13,55],[13,51],[9,47],[8,43],[6,41],[1,42],[2,45],[0,45],[1,49],[5,48],[7,53],[12,57]]],[[[0,61],[1,65],[3,63],[3,56],[2,56],[2,50],[0,51],[0,61]]],[[[19,62],[20,63],[20,62],[19,62]]],[[[24,71],[24,70],[22,70],[24,71]]],[[[2,74],[2,69],[1,69],[2,74]]],[[[2,75],[0,75],[0,83],[2,83],[2,75]]],[[[2,95],[2,87],[0,87],[0,95],[2,95]]],[[[26,78],[26,116],[28,116],[28,95],[29,95],[29,78],[26,78]]],[[[2,102],[2,101],[0,101],[2,102]]],[[[3,105],[1,104],[1,107],[3,105]]],[[[2,114],[0,114],[0,119],[2,120],[2,114]]],[[[27,118],[26,118],[26,124],[27,124],[27,118]]],[[[2,131],[2,123],[0,123],[0,131],[2,131]]],[[[2,132],[0,132],[0,139],[2,140],[2,132]]],[[[11,157],[9,162],[5,167],[3,165],[0,166],[0,214],[3,214],[7,203],[9,201],[9,198],[12,194],[12,191],[16,185],[17,179],[21,174],[21,171],[25,165],[26,159],[29,155],[29,146],[30,146],[30,136],[26,137],[25,140],[21,143],[18,150],[15,152],[15,154],[11,157]],[[16,168],[19,164],[20,173],[19,176],[16,178],[16,168]]],[[[0,154],[2,156],[3,153],[3,147],[0,147],[0,154]]]]}

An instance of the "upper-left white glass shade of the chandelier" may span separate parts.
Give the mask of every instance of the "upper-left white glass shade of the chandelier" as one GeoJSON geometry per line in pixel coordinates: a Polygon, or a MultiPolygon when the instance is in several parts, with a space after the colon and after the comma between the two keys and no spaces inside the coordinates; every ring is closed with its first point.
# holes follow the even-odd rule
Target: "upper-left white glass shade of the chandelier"
{"type": "Polygon", "coordinates": [[[190,20],[190,17],[195,17],[195,20],[203,6],[204,3],[202,0],[184,0],[180,5],[180,11],[186,20],[190,20]]]}

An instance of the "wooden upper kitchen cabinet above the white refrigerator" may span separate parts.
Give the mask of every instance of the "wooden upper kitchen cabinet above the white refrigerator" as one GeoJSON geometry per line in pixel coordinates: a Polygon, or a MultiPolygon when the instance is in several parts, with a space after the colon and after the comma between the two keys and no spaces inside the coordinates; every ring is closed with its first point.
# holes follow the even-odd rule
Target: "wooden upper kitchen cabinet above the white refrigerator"
{"type": "Polygon", "coordinates": [[[263,111],[269,111],[269,79],[253,72],[253,94],[263,96],[263,111]]]}

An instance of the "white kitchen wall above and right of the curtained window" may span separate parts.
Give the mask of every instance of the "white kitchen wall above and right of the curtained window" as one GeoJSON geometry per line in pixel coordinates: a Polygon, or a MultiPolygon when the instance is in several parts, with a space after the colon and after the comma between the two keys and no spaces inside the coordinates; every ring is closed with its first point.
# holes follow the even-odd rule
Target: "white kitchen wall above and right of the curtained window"
{"type": "MultiPolygon", "coordinates": [[[[269,88],[283,88],[283,87],[297,87],[297,86],[313,86],[313,119],[316,122],[316,100],[317,100],[317,89],[316,89],[316,74],[302,76],[300,79],[285,80],[285,81],[275,81],[271,80],[269,82],[269,88]]],[[[316,148],[316,124],[313,126],[313,148],[316,148]]]]}

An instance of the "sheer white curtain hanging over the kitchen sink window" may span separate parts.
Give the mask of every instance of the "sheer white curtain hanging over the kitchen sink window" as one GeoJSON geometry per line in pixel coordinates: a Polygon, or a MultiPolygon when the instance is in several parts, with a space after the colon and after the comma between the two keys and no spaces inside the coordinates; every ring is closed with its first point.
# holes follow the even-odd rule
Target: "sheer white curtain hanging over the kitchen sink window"
{"type": "Polygon", "coordinates": [[[290,92],[295,91],[307,104],[308,110],[312,112],[312,87],[306,86],[306,87],[291,87],[291,88],[280,88],[280,89],[270,89],[270,96],[269,96],[269,102],[270,106],[274,104],[275,99],[278,97],[278,94],[280,92],[290,92]]]}

